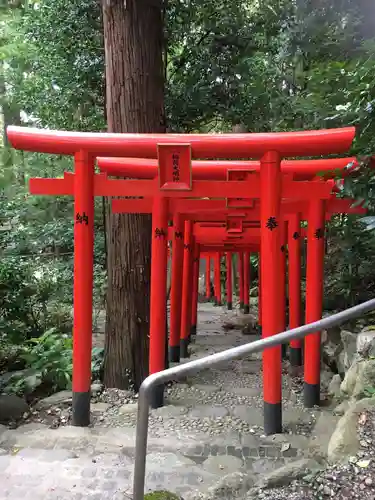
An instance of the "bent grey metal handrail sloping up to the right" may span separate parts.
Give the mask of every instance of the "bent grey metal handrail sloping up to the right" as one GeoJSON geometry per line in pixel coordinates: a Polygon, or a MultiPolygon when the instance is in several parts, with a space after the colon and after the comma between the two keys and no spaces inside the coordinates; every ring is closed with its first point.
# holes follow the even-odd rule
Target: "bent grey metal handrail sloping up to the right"
{"type": "Polygon", "coordinates": [[[144,485],[146,473],[146,454],[147,454],[147,435],[148,435],[148,417],[149,417],[149,401],[152,390],[165,382],[176,380],[186,375],[193,375],[206,368],[222,363],[223,361],[232,361],[242,356],[247,356],[255,352],[263,351],[269,347],[275,347],[284,342],[289,342],[293,339],[304,337],[309,333],[318,332],[322,329],[330,328],[343,323],[349,319],[361,316],[375,309],[375,299],[368,300],[351,307],[337,314],[332,314],[314,323],[293,328],[282,333],[278,333],[271,337],[239,346],[232,347],[226,351],[216,354],[211,354],[204,358],[189,361],[187,363],[168,368],[158,373],[154,373],[147,377],[140,389],[138,395],[138,415],[137,429],[135,442],[135,462],[134,462],[134,479],[133,479],[133,500],[143,500],[144,485]]]}

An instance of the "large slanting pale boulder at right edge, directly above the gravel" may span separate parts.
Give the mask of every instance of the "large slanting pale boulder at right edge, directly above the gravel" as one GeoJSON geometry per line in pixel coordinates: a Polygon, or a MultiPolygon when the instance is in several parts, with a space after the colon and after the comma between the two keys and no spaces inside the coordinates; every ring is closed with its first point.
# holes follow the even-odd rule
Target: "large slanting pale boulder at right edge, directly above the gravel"
{"type": "Polygon", "coordinates": [[[328,461],[343,462],[355,455],[360,447],[357,435],[358,415],[375,406],[375,398],[362,399],[353,404],[337,423],[328,443],[328,461]]]}

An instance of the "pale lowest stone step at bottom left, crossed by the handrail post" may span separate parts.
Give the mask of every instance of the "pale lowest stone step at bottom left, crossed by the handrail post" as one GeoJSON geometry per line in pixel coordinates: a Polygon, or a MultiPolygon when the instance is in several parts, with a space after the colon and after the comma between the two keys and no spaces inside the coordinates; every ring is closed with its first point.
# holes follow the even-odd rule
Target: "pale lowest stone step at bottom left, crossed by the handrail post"
{"type": "MultiPolygon", "coordinates": [[[[1,498],[130,500],[133,467],[133,459],[122,454],[87,457],[64,449],[26,448],[0,456],[1,498]]],[[[150,452],[145,491],[204,492],[220,478],[220,467],[208,468],[177,453],[150,452]]]]}

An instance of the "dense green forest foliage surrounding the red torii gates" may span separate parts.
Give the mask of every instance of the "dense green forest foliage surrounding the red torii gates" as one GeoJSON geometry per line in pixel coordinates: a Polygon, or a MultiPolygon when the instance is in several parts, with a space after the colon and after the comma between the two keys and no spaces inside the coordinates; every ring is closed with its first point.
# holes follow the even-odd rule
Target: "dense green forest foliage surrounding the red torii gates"
{"type": "MultiPolygon", "coordinates": [[[[355,125],[363,163],[346,192],[371,216],[375,176],[373,0],[169,0],[164,8],[166,127],[249,132],[355,125]]],[[[97,0],[4,0],[0,11],[0,372],[27,368],[9,391],[71,376],[73,218],[67,197],[30,196],[28,179],[70,159],[22,154],[5,128],[105,131],[102,8],[97,0]]],[[[105,309],[106,248],[96,200],[95,313],[105,309]]],[[[373,219],[328,228],[325,308],[373,296],[373,219]]],[[[95,315],[94,315],[95,319],[95,315]]],[[[103,352],[94,352],[97,373],[103,352]]]]}

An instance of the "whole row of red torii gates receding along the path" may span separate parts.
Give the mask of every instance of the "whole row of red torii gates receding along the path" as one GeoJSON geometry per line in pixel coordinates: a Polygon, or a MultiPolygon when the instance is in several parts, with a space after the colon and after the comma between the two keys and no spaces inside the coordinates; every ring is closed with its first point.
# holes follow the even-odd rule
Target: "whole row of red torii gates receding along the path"
{"type": "MultiPolygon", "coordinates": [[[[169,345],[172,359],[178,359],[187,355],[191,325],[196,325],[200,255],[214,255],[217,281],[220,255],[230,258],[232,252],[239,252],[245,302],[249,254],[259,252],[262,336],[268,337],[285,329],[286,245],[289,327],[300,325],[301,221],[307,221],[305,321],[310,323],[322,315],[325,220],[334,213],[364,212],[353,208],[352,200],[336,197],[339,189],[333,177],[338,171],[343,177],[350,174],[354,158],[283,160],[345,153],[354,139],[354,127],[211,135],[81,133],[11,126],[7,135],[16,149],[74,157],[74,173],[30,179],[32,194],[74,197],[74,425],[90,422],[95,196],[114,197],[114,212],[152,213],[150,373],[166,364],[166,331],[160,325],[166,324],[169,237],[173,249],[169,345]],[[96,173],[99,157],[102,171],[96,173]],[[239,161],[243,158],[258,161],[239,161]],[[171,219],[173,228],[168,224],[171,219]]],[[[220,290],[218,281],[216,289],[220,290]]],[[[291,344],[294,364],[301,362],[300,349],[299,342],[291,344]]],[[[281,362],[281,346],[264,351],[266,434],[282,431],[281,362]]],[[[163,393],[164,387],[155,391],[153,407],[163,404],[163,393]]],[[[304,340],[304,402],[307,407],[320,402],[319,332],[304,340]]]]}

